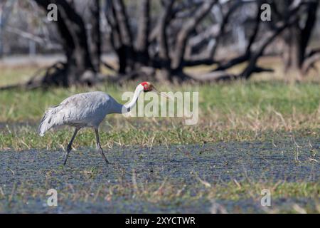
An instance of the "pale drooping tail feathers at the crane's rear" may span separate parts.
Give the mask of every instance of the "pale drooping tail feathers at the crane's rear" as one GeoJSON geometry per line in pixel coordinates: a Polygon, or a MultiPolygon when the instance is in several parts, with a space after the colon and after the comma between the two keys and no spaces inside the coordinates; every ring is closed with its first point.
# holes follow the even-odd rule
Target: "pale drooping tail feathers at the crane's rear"
{"type": "Polygon", "coordinates": [[[60,125],[60,121],[57,121],[56,114],[58,113],[60,105],[55,105],[53,107],[48,108],[46,110],[45,115],[43,115],[43,118],[41,119],[41,123],[38,127],[38,133],[40,136],[43,136],[50,128],[53,128],[56,125],[60,125]]]}

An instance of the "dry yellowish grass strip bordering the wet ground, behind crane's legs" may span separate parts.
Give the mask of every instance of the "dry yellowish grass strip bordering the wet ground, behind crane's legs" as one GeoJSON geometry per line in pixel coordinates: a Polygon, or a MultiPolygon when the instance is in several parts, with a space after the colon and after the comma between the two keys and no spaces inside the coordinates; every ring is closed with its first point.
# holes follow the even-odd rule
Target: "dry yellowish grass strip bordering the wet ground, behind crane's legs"
{"type": "MultiPolygon", "coordinates": [[[[240,121],[240,120],[239,120],[240,121]]],[[[242,120],[243,121],[243,120],[242,120]]],[[[306,123],[292,125],[294,123],[282,123],[281,118],[267,125],[269,120],[247,120],[246,122],[199,123],[198,125],[186,126],[179,122],[144,122],[113,120],[103,124],[100,128],[102,146],[112,148],[116,146],[153,147],[154,145],[168,146],[171,144],[198,144],[209,142],[243,142],[243,141],[274,141],[278,138],[319,138],[319,123],[314,120],[306,123]],[[261,123],[265,123],[262,125],[261,123]],[[262,126],[260,126],[262,125],[262,126]],[[274,129],[272,129],[274,128],[274,129]]],[[[217,120],[218,122],[218,120],[217,120]]],[[[41,138],[36,132],[36,126],[4,125],[0,131],[0,150],[65,150],[70,140],[73,129],[59,128],[50,130],[41,138]]],[[[292,142],[293,143],[293,142],[292,142]]],[[[92,129],[82,129],[75,142],[75,148],[95,147],[95,134],[92,129]]]]}

